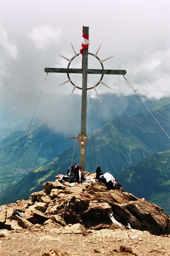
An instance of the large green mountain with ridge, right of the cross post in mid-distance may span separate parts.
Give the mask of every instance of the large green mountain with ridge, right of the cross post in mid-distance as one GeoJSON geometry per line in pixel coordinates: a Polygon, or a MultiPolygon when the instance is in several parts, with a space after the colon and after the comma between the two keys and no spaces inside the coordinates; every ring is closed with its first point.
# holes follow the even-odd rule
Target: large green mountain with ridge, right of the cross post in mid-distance
{"type": "MultiPolygon", "coordinates": [[[[170,104],[153,114],[170,134],[170,104]]],[[[88,168],[95,165],[92,146],[89,138],[86,147],[88,168]]],[[[94,132],[94,146],[97,165],[115,174],[155,152],[170,149],[170,140],[149,113],[113,118],[94,132]]]]}

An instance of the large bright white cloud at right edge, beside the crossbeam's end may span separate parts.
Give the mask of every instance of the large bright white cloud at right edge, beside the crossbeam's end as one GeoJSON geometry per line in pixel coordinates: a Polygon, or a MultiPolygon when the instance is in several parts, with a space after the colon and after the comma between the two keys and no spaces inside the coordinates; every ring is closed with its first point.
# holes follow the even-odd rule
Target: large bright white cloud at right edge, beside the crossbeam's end
{"type": "Polygon", "coordinates": [[[141,96],[160,99],[170,96],[170,48],[150,54],[136,68],[134,88],[141,96]],[[142,76],[141,76],[142,75],[142,76]]]}

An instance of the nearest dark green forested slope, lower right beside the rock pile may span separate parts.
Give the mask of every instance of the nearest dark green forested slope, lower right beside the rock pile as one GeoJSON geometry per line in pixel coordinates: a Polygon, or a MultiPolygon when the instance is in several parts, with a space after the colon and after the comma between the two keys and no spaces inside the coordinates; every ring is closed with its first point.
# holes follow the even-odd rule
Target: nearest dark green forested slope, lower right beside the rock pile
{"type": "Polygon", "coordinates": [[[170,150],[158,152],[117,174],[127,192],[158,204],[170,214],[170,150]]]}

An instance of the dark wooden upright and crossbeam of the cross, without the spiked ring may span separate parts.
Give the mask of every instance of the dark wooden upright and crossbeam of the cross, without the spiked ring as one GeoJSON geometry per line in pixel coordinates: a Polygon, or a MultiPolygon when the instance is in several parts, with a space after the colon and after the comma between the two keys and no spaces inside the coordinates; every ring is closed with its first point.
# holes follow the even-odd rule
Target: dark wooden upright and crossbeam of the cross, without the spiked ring
{"type": "MultiPolygon", "coordinates": [[[[83,33],[88,35],[89,27],[83,26],[83,33]]],[[[97,55],[97,53],[96,53],[97,55]]],[[[95,56],[96,56],[95,55],[95,56]]],[[[67,59],[68,60],[68,59],[67,59]]],[[[68,60],[71,62],[71,60],[68,60]]],[[[82,74],[82,112],[81,112],[81,135],[86,136],[86,107],[87,107],[87,76],[88,74],[112,74],[125,75],[126,70],[104,70],[104,69],[88,69],[88,49],[83,48],[82,52],[82,68],[45,68],[45,72],[51,73],[74,73],[82,74]]],[[[96,87],[96,86],[94,86],[96,87]]],[[[94,88],[92,87],[92,88],[94,88]]],[[[78,87],[79,88],[79,87],[78,87]]],[[[79,88],[81,89],[81,88],[79,88]]],[[[89,88],[91,89],[91,88],[89,88]]],[[[95,89],[95,88],[94,88],[95,89]]],[[[84,137],[85,138],[85,137],[84,137]]],[[[85,171],[85,145],[80,144],[80,166],[82,168],[81,179],[84,180],[85,171]]]]}

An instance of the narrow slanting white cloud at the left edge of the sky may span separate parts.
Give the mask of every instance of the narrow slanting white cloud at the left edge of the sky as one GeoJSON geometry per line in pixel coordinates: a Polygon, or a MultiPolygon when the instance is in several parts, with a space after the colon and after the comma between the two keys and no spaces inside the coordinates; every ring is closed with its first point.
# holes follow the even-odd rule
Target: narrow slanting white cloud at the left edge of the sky
{"type": "Polygon", "coordinates": [[[12,44],[8,38],[6,31],[0,26],[0,44],[10,57],[16,58],[18,55],[18,48],[15,44],[12,44]]]}

